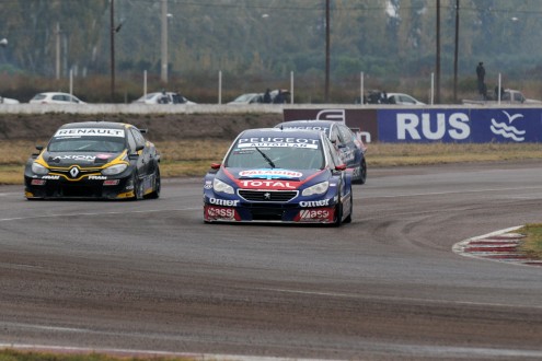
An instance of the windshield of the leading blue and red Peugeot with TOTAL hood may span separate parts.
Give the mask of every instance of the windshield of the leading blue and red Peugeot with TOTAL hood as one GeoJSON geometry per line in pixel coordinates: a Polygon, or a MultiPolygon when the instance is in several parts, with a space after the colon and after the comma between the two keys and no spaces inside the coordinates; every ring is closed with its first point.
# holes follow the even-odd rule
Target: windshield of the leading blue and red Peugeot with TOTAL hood
{"type": "Polygon", "coordinates": [[[321,170],[324,155],[320,144],[285,147],[279,143],[238,143],[224,164],[227,167],[241,168],[321,170]]]}

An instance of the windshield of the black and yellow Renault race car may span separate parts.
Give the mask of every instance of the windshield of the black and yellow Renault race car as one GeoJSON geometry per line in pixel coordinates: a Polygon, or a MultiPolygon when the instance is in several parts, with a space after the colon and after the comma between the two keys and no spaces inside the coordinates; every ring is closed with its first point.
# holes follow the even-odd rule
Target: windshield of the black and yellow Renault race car
{"type": "Polygon", "coordinates": [[[117,153],[126,148],[119,137],[53,138],[47,147],[49,152],[109,152],[117,153]]]}

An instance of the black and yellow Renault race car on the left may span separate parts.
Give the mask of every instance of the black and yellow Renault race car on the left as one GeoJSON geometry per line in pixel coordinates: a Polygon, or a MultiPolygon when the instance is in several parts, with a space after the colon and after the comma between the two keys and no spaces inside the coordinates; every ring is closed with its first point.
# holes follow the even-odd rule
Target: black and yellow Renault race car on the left
{"type": "Polygon", "coordinates": [[[26,162],[26,199],[160,197],[160,154],[132,125],[113,121],[61,126],[26,162]]]}

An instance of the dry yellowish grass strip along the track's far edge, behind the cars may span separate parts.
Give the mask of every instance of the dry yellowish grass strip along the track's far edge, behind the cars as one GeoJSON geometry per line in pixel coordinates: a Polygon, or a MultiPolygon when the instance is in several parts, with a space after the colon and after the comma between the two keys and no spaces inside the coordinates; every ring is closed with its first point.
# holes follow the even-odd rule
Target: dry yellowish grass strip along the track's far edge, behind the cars
{"type": "MultiPolygon", "coordinates": [[[[222,160],[230,141],[180,140],[155,142],[155,145],[162,154],[163,177],[204,176],[210,163],[222,160]]],[[[35,152],[34,142],[2,141],[0,143],[0,184],[22,184],[22,168],[33,152],[35,152]]],[[[542,159],[542,147],[535,143],[371,143],[368,144],[366,158],[370,172],[371,168],[383,166],[542,159]]]]}

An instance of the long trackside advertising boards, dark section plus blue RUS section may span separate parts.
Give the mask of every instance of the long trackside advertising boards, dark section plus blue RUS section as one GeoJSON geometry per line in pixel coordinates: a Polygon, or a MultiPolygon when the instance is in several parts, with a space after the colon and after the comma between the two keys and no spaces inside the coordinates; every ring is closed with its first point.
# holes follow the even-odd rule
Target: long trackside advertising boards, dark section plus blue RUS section
{"type": "Polygon", "coordinates": [[[364,142],[542,142],[542,108],[284,109],[289,120],[335,120],[364,142]]]}

